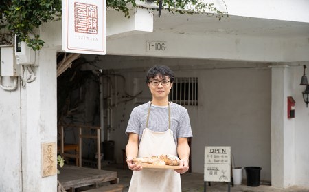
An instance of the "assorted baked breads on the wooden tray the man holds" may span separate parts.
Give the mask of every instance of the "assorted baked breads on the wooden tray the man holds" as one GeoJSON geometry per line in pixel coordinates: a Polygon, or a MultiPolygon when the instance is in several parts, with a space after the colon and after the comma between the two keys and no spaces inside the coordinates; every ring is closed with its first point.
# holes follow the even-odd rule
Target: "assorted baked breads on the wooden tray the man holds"
{"type": "Polygon", "coordinates": [[[148,163],[156,165],[179,165],[179,158],[173,155],[133,158],[133,163],[148,163]]]}

